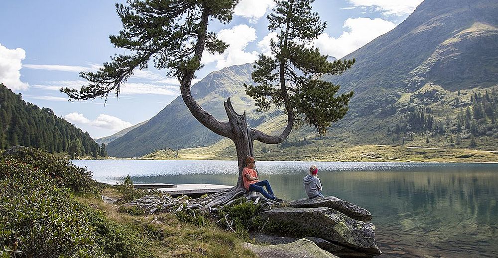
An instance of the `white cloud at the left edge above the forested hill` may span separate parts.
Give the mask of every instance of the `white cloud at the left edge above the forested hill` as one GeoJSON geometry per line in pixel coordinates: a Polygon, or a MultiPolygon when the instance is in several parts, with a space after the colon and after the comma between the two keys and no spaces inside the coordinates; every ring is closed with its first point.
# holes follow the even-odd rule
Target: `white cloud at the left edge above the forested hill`
{"type": "Polygon", "coordinates": [[[29,84],[21,81],[21,61],[26,51],[21,48],[8,49],[0,44],[0,83],[12,90],[26,90],[29,84]]]}

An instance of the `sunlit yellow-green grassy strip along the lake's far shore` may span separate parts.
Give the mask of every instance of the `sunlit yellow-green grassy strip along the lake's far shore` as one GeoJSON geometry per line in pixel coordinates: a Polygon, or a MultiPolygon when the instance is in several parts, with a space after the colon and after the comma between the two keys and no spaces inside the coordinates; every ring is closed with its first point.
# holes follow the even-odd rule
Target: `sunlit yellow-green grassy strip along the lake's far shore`
{"type": "MultiPolygon", "coordinates": [[[[255,143],[255,156],[259,160],[287,161],[381,161],[381,162],[498,162],[498,152],[475,149],[424,148],[425,144],[409,142],[407,145],[334,145],[328,140],[312,140],[300,147],[279,149],[275,145],[255,143]],[[413,144],[414,143],[414,144],[413,144]],[[265,146],[269,153],[262,153],[265,146]],[[421,146],[410,147],[410,146],[421,146]]],[[[176,159],[184,160],[234,160],[235,147],[229,140],[208,146],[179,151],[176,159]]],[[[148,155],[151,159],[164,159],[160,152],[148,155]]]]}

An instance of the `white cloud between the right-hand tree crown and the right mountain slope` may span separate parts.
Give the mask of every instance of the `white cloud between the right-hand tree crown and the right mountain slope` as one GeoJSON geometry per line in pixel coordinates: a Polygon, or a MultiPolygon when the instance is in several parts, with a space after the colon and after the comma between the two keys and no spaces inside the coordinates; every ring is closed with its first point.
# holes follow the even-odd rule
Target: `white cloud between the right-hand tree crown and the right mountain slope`
{"type": "Polygon", "coordinates": [[[346,31],[339,38],[323,33],[315,40],[315,47],[322,54],[341,59],[394,27],[394,23],[379,18],[348,18],[343,25],[346,31]]]}

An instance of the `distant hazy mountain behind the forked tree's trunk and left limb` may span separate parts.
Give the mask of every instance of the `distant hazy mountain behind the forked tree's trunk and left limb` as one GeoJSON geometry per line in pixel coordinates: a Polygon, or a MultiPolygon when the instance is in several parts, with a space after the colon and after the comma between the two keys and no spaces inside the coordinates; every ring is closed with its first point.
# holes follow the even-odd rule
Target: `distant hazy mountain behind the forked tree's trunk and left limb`
{"type": "MultiPolygon", "coordinates": [[[[235,65],[208,74],[192,86],[192,96],[199,105],[220,121],[228,121],[223,102],[230,97],[238,112],[255,110],[254,101],[246,96],[244,83],[251,83],[252,65],[235,65]]],[[[249,120],[255,126],[261,123],[256,114],[249,120]]],[[[154,150],[206,146],[222,137],[206,129],[190,113],[178,96],[147,123],[130,130],[124,136],[107,146],[109,155],[133,157],[148,154],[154,150]]]]}

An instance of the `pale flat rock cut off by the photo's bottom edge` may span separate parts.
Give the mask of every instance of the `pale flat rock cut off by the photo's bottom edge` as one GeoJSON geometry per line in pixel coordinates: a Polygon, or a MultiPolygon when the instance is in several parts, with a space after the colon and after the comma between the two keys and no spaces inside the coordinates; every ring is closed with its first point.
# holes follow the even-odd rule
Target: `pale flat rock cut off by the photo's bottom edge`
{"type": "Polygon", "coordinates": [[[261,258],[338,258],[305,238],[281,245],[258,246],[250,243],[244,245],[261,258]]]}

